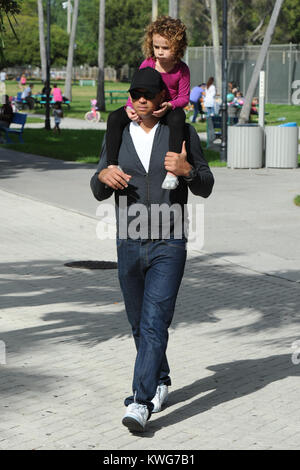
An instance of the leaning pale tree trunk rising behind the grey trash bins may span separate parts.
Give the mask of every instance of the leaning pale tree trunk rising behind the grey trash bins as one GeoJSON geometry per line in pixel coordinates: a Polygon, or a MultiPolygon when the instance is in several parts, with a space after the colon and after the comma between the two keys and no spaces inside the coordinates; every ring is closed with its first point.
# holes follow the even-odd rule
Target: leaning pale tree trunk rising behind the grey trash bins
{"type": "Polygon", "coordinates": [[[251,110],[251,103],[253,100],[253,96],[255,93],[257,81],[259,78],[259,73],[262,70],[262,67],[264,65],[264,61],[266,59],[267,53],[269,46],[272,41],[272,37],[275,31],[276,23],[278,20],[278,16],[281,10],[283,4],[283,0],[276,0],[273,13],[270,19],[270,23],[268,25],[268,29],[266,31],[264,41],[262,43],[262,46],[260,48],[259,56],[256,61],[255,68],[253,70],[253,74],[251,77],[251,81],[247,90],[247,94],[245,97],[245,103],[242,107],[241,114],[240,114],[240,119],[239,119],[239,124],[245,124],[246,122],[249,121],[249,115],[250,115],[250,110],[251,110]]]}

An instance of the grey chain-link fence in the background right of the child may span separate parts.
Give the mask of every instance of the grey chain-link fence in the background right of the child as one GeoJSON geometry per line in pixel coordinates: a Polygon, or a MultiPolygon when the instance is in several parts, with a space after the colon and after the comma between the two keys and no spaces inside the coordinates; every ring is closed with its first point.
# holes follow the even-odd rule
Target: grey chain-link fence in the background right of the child
{"type": "MultiPolygon", "coordinates": [[[[247,92],[259,50],[260,46],[235,46],[228,50],[228,81],[236,83],[244,94],[247,92]]],[[[191,86],[207,82],[210,76],[215,75],[212,47],[189,47],[185,61],[191,71],[191,86]]],[[[291,104],[292,84],[300,79],[300,45],[270,46],[263,70],[266,72],[266,102],[291,104]]],[[[255,94],[258,95],[258,85],[255,94]]]]}

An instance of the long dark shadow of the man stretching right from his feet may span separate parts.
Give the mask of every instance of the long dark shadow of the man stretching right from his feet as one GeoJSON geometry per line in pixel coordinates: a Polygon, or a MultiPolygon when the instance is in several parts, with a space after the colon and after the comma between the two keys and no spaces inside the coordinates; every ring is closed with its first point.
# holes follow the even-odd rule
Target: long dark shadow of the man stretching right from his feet
{"type": "Polygon", "coordinates": [[[207,369],[215,374],[169,394],[167,409],[170,412],[162,416],[153,415],[143,437],[153,437],[163,427],[180,423],[222,403],[257,392],[278,380],[300,376],[300,368],[292,363],[290,354],[228,362],[208,366],[207,369]],[[172,405],[208,391],[210,393],[205,396],[172,411],[172,405]]]}

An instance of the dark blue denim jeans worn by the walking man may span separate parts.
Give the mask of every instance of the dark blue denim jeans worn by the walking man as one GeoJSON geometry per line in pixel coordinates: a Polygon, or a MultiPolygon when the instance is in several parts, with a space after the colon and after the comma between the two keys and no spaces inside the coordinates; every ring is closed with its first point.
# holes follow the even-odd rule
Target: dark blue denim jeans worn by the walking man
{"type": "MultiPolygon", "coordinates": [[[[157,385],[170,385],[168,328],[186,261],[185,240],[117,240],[119,281],[137,349],[135,401],[151,403],[157,385]]],[[[133,396],[125,400],[129,405],[133,396]]]]}

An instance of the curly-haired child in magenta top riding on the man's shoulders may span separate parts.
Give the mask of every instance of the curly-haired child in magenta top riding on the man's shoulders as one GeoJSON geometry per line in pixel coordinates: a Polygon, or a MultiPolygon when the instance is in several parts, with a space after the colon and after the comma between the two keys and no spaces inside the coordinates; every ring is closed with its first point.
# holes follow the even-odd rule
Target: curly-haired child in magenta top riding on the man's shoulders
{"type": "MultiPolygon", "coordinates": [[[[161,73],[166,87],[166,101],[153,115],[164,118],[170,129],[169,151],[181,153],[184,140],[185,112],[189,103],[190,71],[181,60],[187,47],[186,27],[179,20],[162,16],[149,24],[144,37],[143,51],[146,60],[140,69],[152,67],[161,73]]],[[[141,90],[142,91],[142,90],[141,90]]],[[[132,97],[135,99],[134,97],[132,97]]],[[[137,97],[136,99],[139,99],[137,97]]],[[[125,126],[138,121],[139,116],[128,99],[122,108],[110,113],[107,121],[106,148],[108,166],[118,165],[118,154],[125,126]]],[[[162,184],[164,189],[175,189],[178,178],[167,173],[162,184]]]]}

